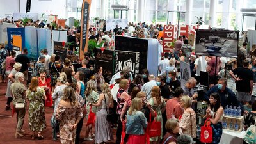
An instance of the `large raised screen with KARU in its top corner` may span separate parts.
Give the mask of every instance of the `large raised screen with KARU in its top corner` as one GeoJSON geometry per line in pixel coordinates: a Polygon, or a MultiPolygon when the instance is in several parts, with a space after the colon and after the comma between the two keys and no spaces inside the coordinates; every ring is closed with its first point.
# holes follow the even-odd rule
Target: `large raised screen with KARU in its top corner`
{"type": "Polygon", "coordinates": [[[196,29],[195,52],[204,56],[237,57],[238,31],[196,29]]]}

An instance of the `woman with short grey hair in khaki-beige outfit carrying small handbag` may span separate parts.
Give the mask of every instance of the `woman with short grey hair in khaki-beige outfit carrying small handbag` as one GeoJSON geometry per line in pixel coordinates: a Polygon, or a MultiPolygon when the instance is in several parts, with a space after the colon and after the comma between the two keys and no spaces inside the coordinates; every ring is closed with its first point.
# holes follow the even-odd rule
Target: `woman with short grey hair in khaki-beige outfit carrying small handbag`
{"type": "Polygon", "coordinates": [[[13,95],[13,105],[17,102],[25,102],[24,108],[16,109],[17,112],[17,128],[15,133],[15,138],[24,136],[22,132],[25,132],[22,127],[24,124],[24,118],[26,113],[26,88],[23,84],[24,74],[22,72],[17,72],[15,74],[15,82],[11,85],[11,91],[13,95]]]}

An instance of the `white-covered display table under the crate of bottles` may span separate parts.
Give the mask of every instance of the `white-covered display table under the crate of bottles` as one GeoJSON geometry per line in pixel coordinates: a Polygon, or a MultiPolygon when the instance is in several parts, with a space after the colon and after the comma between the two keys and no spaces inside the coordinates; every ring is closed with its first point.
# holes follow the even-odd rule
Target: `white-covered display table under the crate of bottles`
{"type": "Polygon", "coordinates": [[[220,139],[220,144],[241,144],[243,143],[243,138],[246,131],[242,132],[232,132],[223,129],[223,133],[220,139]]]}

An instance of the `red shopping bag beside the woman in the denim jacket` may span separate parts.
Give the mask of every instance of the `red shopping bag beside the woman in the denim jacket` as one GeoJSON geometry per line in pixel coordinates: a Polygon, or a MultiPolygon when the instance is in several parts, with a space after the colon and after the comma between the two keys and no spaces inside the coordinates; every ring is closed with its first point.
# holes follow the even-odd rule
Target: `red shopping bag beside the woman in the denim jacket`
{"type": "Polygon", "coordinates": [[[147,134],[148,136],[151,137],[156,137],[156,136],[161,136],[161,122],[156,121],[157,118],[157,113],[155,113],[155,118],[153,122],[151,122],[151,113],[149,115],[149,123],[147,126],[147,134]]]}

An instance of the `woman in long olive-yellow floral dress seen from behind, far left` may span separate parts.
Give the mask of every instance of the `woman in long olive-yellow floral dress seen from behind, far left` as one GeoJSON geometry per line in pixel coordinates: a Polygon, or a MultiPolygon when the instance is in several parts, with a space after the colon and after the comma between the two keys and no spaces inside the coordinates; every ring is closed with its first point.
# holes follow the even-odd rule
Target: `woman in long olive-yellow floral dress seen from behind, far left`
{"type": "Polygon", "coordinates": [[[32,131],[32,139],[35,139],[35,132],[38,132],[37,137],[42,139],[44,136],[41,132],[46,128],[45,122],[45,106],[46,99],[45,90],[38,86],[38,78],[31,79],[30,86],[27,90],[27,98],[29,100],[29,129],[32,131]]]}

